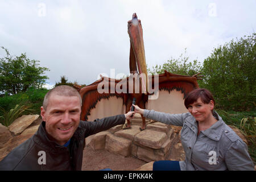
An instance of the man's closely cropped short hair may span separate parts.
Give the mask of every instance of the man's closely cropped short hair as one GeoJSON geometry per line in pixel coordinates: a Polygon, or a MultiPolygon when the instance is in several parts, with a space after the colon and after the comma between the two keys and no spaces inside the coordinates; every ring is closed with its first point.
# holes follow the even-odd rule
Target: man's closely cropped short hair
{"type": "Polygon", "coordinates": [[[49,102],[48,100],[52,94],[57,94],[58,96],[79,97],[79,100],[82,105],[82,98],[81,98],[79,92],[75,88],[73,88],[72,86],[68,86],[68,85],[60,85],[60,86],[56,86],[55,88],[49,90],[49,92],[47,92],[46,96],[44,96],[44,101],[43,101],[44,110],[47,109],[48,102],[49,102]]]}

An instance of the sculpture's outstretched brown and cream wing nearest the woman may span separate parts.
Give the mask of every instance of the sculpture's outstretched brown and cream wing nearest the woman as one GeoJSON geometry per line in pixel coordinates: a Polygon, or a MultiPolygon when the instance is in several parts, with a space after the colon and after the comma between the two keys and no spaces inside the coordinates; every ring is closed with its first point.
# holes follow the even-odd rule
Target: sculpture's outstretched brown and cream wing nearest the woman
{"type": "Polygon", "coordinates": [[[187,112],[184,99],[193,89],[199,88],[196,80],[193,76],[177,75],[167,71],[149,76],[149,85],[155,90],[155,95],[148,96],[146,109],[172,114],[187,112]]]}

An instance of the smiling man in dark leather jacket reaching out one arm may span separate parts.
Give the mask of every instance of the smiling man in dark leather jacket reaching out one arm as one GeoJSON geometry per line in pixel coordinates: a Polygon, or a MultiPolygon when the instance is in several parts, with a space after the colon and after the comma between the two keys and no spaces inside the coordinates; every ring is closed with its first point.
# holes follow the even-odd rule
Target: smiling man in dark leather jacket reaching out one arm
{"type": "Polygon", "coordinates": [[[0,170],[81,170],[85,138],[131,119],[134,112],[80,121],[81,96],[71,86],[50,90],[38,131],[0,162],[0,170]]]}

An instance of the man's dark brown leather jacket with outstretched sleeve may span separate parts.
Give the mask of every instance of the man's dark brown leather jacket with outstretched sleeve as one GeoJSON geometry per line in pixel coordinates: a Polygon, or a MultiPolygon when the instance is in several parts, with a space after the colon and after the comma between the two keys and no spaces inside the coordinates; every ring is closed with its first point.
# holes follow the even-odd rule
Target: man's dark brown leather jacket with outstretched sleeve
{"type": "Polygon", "coordinates": [[[0,171],[81,170],[85,138],[124,123],[124,114],[96,119],[94,122],[80,121],[68,148],[49,140],[45,130],[46,123],[42,122],[30,139],[16,147],[0,162],[0,171]]]}

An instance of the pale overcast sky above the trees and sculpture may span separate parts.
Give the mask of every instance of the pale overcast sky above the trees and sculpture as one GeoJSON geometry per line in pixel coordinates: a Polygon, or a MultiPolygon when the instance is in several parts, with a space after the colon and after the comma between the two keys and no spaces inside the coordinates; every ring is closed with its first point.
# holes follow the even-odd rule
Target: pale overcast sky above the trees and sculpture
{"type": "MultiPolygon", "coordinates": [[[[149,68],[178,58],[204,59],[217,46],[255,32],[256,1],[0,0],[0,46],[40,61],[49,84],[65,75],[91,84],[100,73],[129,74],[127,21],[141,19],[149,68]]],[[[0,57],[5,51],[0,50],[0,57]]]]}

